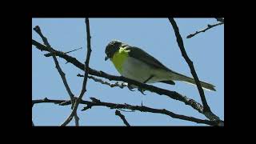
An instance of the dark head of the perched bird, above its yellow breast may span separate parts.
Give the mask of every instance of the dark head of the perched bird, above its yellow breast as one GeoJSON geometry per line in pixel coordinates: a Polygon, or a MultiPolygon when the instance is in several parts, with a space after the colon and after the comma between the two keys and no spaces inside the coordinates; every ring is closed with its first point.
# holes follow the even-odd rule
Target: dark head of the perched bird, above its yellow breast
{"type": "Polygon", "coordinates": [[[118,40],[114,40],[114,41],[111,41],[109,42],[107,45],[106,45],[106,50],[105,50],[105,54],[106,54],[106,57],[105,57],[105,61],[109,58],[113,58],[113,55],[115,52],[117,52],[120,47],[123,45],[122,42],[118,41],[118,40]]]}

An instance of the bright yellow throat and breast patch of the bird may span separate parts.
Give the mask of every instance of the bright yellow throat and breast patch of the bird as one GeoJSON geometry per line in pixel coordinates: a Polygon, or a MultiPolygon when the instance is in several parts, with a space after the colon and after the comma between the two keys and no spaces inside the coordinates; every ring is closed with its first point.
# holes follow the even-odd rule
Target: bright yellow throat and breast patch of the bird
{"type": "Polygon", "coordinates": [[[117,52],[114,53],[113,58],[110,58],[120,74],[122,74],[122,64],[126,62],[126,58],[129,57],[129,52],[130,50],[120,48],[117,52]]]}

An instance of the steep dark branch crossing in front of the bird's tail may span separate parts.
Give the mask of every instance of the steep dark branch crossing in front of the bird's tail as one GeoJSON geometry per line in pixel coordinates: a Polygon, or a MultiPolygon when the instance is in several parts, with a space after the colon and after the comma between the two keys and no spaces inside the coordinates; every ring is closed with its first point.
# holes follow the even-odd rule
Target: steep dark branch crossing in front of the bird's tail
{"type": "Polygon", "coordinates": [[[204,91],[202,90],[202,86],[201,86],[201,83],[199,81],[198,74],[194,70],[193,62],[190,60],[190,58],[186,54],[186,50],[185,50],[185,47],[184,47],[184,44],[183,44],[182,36],[181,36],[181,34],[179,34],[178,26],[177,26],[176,22],[174,21],[174,18],[169,18],[169,20],[170,20],[171,25],[174,28],[174,32],[175,32],[175,35],[176,35],[176,38],[177,38],[176,40],[178,42],[178,46],[181,50],[182,56],[186,60],[186,63],[190,66],[190,72],[193,75],[194,82],[196,83],[196,85],[198,87],[200,98],[202,100],[203,112],[204,112],[204,114],[207,114],[206,117],[210,118],[210,120],[219,120],[219,118],[215,114],[214,114],[214,117],[211,117],[211,116],[209,117],[209,113],[210,114],[213,114],[213,113],[210,110],[210,106],[208,106],[208,104],[206,102],[206,97],[205,97],[204,91]]]}

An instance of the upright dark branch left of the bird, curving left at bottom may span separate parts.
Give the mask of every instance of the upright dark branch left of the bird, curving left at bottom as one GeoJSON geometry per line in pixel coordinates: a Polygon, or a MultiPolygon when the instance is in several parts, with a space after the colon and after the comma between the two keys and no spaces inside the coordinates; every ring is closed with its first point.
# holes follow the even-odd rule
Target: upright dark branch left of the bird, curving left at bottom
{"type": "Polygon", "coordinates": [[[66,126],[69,122],[70,119],[73,118],[74,114],[78,110],[78,105],[82,100],[83,95],[86,93],[86,84],[87,84],[87,79],[88,79],[88,74],[89,74],[89,62],[90,62],[90,53],[91,53],[91,48],[90,48],[90,24],[89,24],[89,18],[86,18],[86,34],[87,34],[87,54],[86,54],[86,61],[85,61],[85,77],[82,82],[82,90],[81,93],[79,94],[78,99],[74,103],[74,108],[69,115],[68,118],[66,118],[65,122],[62,123],[61,126],[66,126]]]}

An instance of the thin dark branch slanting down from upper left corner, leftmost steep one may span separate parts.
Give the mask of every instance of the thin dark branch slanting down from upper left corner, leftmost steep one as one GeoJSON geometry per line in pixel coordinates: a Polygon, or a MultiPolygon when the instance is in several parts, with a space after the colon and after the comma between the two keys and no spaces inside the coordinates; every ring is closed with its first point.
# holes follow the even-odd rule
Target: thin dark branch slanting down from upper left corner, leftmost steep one
{"type": "MultiPolygon", "coordinates": [[[[74,106],[74,94],[71,92],[70,86],[66,82],[65,73],[62,71],[61,66],[59,66],[59,64],[58,64],[56,54],[54,53],[54,50],[51,48],[50,43],[48,42],[47,38],[42,34],[42,31],[41,31],[40,27],[35,26],[33,30],[36,31],[39,34],[39,36],[42,38],[43,43],[46,45],[46,49],[49,50],[50,54],[53,56],[56,69],[58,70],[58,73],[61,75],[62,82],[64,83],[64,86],[66,88],[67,93],[70,95],[70,99],[71,99],[71,102],[72,102],[71,108],[72,108],[74,106]]],[[[78,114],[75,113],[74,115],[75,115],[75,117],[74,117],[75,118],[75,125],[78,126],[79,125],[78,124],[78,120],[79,120],[78,114]]]]}

